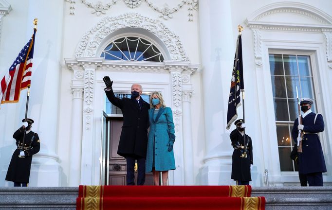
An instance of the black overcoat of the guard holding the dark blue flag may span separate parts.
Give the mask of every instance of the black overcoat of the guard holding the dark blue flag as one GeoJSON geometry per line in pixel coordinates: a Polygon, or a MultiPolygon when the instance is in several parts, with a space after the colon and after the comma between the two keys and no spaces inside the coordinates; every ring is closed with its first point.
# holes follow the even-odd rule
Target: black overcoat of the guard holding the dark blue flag
{"type": "MultiPolygon", "coordinates": [[[[232,175],[231,178],[238,181],[251,181],[250,164],[253,162],[253,146],[251,138],[246,136],[248,143],[247,157],[240,157],[243,149],[235,149],[232,156],[232,175]]],[[[243,136],[238,129],[234,129],[229,135],[233,148],[237,146],[244,146],[243,136]]]]}

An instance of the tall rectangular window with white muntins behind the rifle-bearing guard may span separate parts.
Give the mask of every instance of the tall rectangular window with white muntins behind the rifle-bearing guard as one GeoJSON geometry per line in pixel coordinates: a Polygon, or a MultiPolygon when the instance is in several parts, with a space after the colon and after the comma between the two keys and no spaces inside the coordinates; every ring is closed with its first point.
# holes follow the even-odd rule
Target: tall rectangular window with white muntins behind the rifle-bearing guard
{"type": "Polygon", "coordinates": [[[299,98],[313,99],[312,111],[315,112],[316,99],[310,59],[309,55],[301,54],[269,54],[279,161],[282,172],[298,170],[297,164],[290,158],[294,146],[291,131],[298,116],[296,88],[299,98]]]}

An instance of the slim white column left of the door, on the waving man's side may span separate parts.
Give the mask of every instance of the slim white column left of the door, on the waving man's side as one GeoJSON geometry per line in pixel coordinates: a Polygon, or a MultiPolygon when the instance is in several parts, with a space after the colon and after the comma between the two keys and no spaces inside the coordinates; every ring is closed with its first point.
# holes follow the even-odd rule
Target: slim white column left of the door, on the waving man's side
{"type": "Polygon", "coordinates": [[[81,175],[83,88],[72,87],[72,93],[72,135],[70,139],[70,172],[68,186],[78,186],[80,184],[81,175]]]}

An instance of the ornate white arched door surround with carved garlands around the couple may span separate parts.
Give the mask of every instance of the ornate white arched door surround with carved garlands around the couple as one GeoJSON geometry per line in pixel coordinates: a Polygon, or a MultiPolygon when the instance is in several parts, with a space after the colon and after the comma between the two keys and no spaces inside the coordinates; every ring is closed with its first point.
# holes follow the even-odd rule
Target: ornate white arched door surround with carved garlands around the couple
{"type": "Polygon", "coordinates": [[[173,110],[178,142],[174,147],[177,170],[170,175],[169,181],[178,185],[193,184],[193,149],[190,143],[190,94],[193,90],[190,75],[199,65],[190,63],[180,38],[159,20],[136,13],[106,17],[82,37],[75,55],[74,59],[65,59],[68,69],[73,70],[71,142],[76,145],[71,147],[70,167],[74,170],[69,175],[69,185],[93,185],[100,181],[100,113],[105,108],[105,85],[102,81],[105,75],[111,75],[114,90],[129,90],[132,83],[140,83],[143,91],[159,90],[163,93],[173,110]],[[123,34],[148,38],[160,48],[164,62],[100,58],[100,52],[109,41],[123,34]],[[74,167],[77,165],[78,168],[74,167]]]}

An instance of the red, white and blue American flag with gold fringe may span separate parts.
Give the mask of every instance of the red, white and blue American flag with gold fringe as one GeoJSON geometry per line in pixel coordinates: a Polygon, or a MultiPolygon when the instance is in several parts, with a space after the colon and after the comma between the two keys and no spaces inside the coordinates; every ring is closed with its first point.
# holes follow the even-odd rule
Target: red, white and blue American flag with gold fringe
{"type": "Polygon", "coordinates": [[[36,31],[1,79],[0,104],[18,102],[20,90],[30,87],[36,31]]]}

